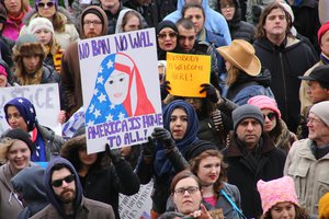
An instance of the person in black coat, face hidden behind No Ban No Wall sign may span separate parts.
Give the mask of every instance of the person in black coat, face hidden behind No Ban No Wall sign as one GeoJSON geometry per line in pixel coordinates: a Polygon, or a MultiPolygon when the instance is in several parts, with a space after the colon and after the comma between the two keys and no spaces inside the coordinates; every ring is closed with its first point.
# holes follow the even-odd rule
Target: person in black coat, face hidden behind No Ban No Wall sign
{"type": "Polygon", "coordinates": [[[61,157],[77,170],[84,196],[111,205],[115,218],[120,219],[118,194],[138,193],[139,180],[120,149],[109,151],[106,146],[106,151],[87,154],[86,135],[79,131],[63,146],[61,157]]]}

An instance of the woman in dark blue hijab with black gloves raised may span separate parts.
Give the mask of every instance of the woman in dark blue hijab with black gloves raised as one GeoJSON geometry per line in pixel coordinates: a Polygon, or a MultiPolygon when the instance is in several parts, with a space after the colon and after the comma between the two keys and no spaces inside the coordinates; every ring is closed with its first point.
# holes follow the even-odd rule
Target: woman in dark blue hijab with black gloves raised
{"type": "Polygon", "coordinates": [[[136,168],[141,184],[155,178],[151,218],[166,211],[170,182],[175,173],[188,168],[183,155],[198,142],[196,113],[184,101],[173,101],[163,108],[163,127],[155,128],[154,139],[143,145],[136,168]]]}

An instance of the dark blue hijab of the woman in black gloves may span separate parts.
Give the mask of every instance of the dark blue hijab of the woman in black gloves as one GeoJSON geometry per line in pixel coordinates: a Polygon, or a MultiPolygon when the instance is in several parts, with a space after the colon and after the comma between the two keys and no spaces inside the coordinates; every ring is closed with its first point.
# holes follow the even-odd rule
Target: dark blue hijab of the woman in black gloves
{"type": "MultiPolygon", "coordinates": [[[[170,130],[170,116],[175,108],[183,108],[188,114],[188,129],[185,136],[183,139],[175,141],[175,147],[184,155],[185,151],[190,148],[190,146],[198,140],[198,119],[192,105],[182,100],[173,101],[163,108],[163,126],[167,130],[170,130]]],[[[168,160],[166,149],[162,145],[156,142],[155,154],[156,174],[158,174],[159,176],[162,176],[164,174],[172,174],[173,176],[175,171],[171,162],[168,160]]]]}

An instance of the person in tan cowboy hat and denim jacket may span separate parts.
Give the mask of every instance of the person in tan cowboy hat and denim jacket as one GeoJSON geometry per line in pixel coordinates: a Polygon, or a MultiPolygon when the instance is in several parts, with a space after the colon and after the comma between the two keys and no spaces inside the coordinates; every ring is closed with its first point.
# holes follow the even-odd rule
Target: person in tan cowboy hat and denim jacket
{"type": "Polygon", "coordinates": [[[243,39],[234,39],[229,46],[222,46],[217,51],[226,60],[228,91],[224,97],[238,105],[256,95],[274,99],[271,84],[271,72],[261,68],[252,45],[243,39]]]}

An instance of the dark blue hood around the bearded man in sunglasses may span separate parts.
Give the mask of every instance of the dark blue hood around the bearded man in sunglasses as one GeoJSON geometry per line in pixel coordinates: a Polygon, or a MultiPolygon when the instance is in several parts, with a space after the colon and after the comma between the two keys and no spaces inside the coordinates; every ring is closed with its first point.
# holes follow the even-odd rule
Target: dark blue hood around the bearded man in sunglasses
{"type": "Polygon", "coordinates": [[[83,194],[82,186],[81,186],[77,171],[75,170],[73,165],[68,160],[58,157],[48,163],[46,172],[45,172],[45,176],[44,176],[47,198],[63,218],[68,218],[65,215],[65,211],[53,191],[53,185],[52,185],[52,173],[53,172],[52,172],[52,170],[56,164],[64,164],[72,174],[75,174],[75,183],[76,183],[76,199],[73,203],[75,209],[78,209],[78,207],[80,206],[80,204],[82,201],[82,194],[83,194]]]}

